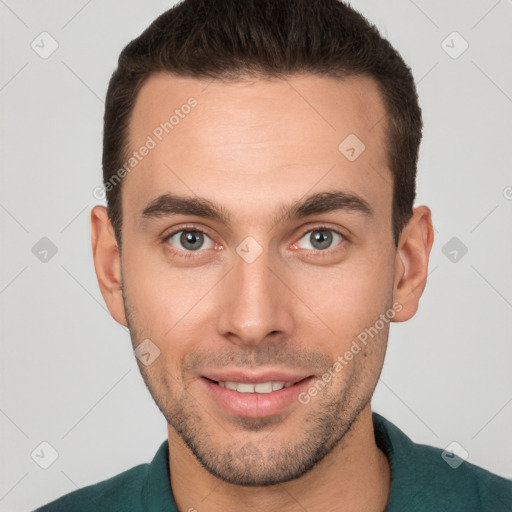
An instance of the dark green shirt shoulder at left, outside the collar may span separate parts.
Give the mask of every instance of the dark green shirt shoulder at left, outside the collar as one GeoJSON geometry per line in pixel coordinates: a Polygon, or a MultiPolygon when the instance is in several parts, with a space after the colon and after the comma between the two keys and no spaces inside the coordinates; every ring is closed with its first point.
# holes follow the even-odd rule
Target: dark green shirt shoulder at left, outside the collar
{"type": "Polygon", "coordinates": [[[83,487],[34,512],[121,512],[142,510],[141,486],[149,464],[140,464],[107,480],[83,487]]]}

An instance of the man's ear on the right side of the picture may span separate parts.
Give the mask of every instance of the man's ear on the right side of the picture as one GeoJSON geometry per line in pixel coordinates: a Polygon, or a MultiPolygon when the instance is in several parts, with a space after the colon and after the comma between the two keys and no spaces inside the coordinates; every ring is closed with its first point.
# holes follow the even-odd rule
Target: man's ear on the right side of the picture
{"type": "Polygon", "coordinates": [[[427,206],[418,206],[402,230],[396,252],[393,303],[398,302],[402,309],[393,318],[395,322],[409,320],[418,310],[433,243],[431,211],[427,206]]]}

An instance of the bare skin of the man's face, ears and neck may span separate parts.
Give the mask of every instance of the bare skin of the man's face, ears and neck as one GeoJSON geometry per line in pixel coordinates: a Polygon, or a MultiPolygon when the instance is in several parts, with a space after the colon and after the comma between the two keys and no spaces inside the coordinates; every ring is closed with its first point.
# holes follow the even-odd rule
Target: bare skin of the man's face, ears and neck
{"type": "Polygon", "coordinates": [[[431,213],[416,207],[395,247],[377,87],[361,77],[208,83],[153,75],[135,104],[131,148],[191,96],[197,106],[124,179],[122,256],[105,208],[91,213],[112,316],[129,327],[134,347],[149,338],[160,350],[139,367],[168,423],[178,508],[325,512],[343,503],[344,511],[383,511],[391,474],[375,443],[371,396],[389,323],[308,404],[276,415],[228,414],[201,380],[234,368],[319,377],[393,304],[393,321],[415,314],[431,213]],[[355,161],[338,150],[348,134],[366,147],[355,161]],[[333,190],[363,199],[373,214],[342,209],[275,222],[283,206],[333,190]],[[144,218],[166,193],[206,198],[230,222],[144,218]],[[180,228],[206,233],[204,248],[187,250],[181,233],[166,238],[180,228]],[[315,251],[310,236],[319,228],[343,238],[333,234],[315,251]],[[248,236],[262,248],[252,263],[236,251],[248,236]]]}

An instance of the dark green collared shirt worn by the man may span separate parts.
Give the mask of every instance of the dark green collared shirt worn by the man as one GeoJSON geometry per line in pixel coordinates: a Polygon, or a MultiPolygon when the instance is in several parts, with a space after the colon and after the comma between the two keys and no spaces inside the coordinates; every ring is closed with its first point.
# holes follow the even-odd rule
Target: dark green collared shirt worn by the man
{"type": "MultiPolygon", "coordinates": [[[[373,425],[377,445],[391,466],[386,512],[512,511],[512,480],[469,462],[454,469],[461,459],[414,443],[375,412],[373,425]]],[[[177,512],[169,480],[168,447],[168,441],[163,442],[150,464],[74,491],[36,512],[177,512]]],[[[208,507],[203,504],[201,510],[208,507]]]]}

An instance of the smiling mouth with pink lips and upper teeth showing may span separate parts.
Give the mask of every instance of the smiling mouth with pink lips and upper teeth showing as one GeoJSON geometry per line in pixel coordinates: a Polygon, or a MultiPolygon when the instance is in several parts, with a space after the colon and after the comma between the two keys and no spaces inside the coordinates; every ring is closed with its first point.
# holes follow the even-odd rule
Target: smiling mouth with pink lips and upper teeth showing
{"type": "Polygon", "coordinates": [[[315,377],[313,375],[275,376],[202,376],[209,397],[224,413],[261,418],[300,405],[298,396],[315,377]]]}

